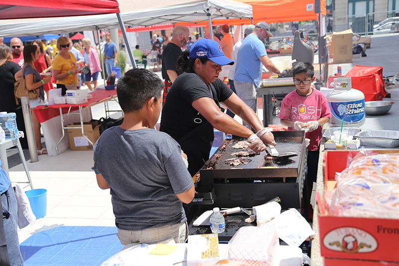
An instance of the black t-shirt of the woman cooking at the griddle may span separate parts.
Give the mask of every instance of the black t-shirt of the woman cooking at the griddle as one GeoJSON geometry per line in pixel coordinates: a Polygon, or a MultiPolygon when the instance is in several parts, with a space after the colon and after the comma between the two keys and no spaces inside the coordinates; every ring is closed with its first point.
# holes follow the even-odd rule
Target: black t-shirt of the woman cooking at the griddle
{"type": "MultiPolygon", "coordinates": [[[[219,106],[219,102],[227,100],[233,91],[220,79],[209,84],[210,93],[205,82],[196,73],[189,71],[181,74],[173,82],[162,107],[160,131],[171,135],[177,142],[190,131],[210,123],[193,107],[194,100],[209,97],[219,106]]],[[[209,130],[213,132],[212,125],[209,130]]],[[[195,141],[195,140],[193,140],[195,141]]],[[[213,141],[210,140],[210,141],[213,141]]]]}

